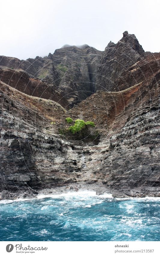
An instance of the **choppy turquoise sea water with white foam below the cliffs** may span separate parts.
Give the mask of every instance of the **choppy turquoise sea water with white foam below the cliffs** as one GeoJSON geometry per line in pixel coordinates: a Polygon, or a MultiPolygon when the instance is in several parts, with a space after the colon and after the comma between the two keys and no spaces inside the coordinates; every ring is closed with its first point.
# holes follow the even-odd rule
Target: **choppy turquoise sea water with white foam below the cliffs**
{"type": "Polygon", "coordinates": [[[1,201],[4,241],[160,241],[160,198],[92,191],[1,201]]]}

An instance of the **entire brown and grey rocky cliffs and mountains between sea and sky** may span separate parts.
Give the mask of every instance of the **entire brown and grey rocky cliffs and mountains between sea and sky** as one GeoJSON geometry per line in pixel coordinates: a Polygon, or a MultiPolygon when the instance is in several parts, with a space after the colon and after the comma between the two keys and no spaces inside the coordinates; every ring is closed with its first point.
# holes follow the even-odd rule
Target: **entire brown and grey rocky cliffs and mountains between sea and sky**
{"type": "Polygon", "coordinates": [[[159,196],[159,62],[127,31],[104,52],[85,45],[24,62],[3,57],[2,198],[63,185],[159,196]],[[71,134],[66,117],[95,127],[71,134]]]}

